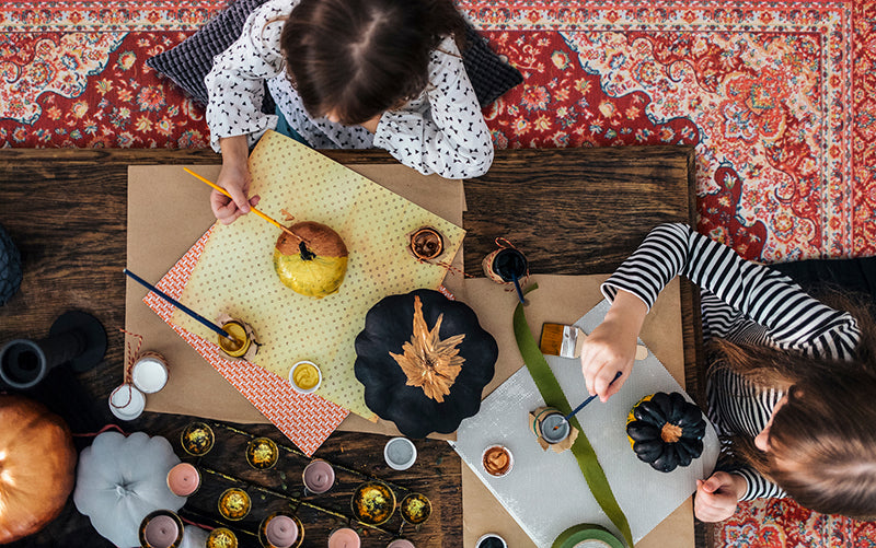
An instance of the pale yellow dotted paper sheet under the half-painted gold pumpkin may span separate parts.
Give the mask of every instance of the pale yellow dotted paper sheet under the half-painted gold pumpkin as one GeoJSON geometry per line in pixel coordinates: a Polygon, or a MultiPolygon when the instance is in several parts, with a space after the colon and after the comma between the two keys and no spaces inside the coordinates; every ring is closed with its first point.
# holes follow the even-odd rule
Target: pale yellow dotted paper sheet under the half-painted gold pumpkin
{"type": "MultiPolygon", "coordinates": [[[[407,234],[433,226],[453,257],[464,231],[276,132],[253,150],[250,173],[251,191],[262,197],[258,207],[265,214],[281,220],[286,209],[296,221],[316,221],[341,234],[349,250],[344,283],[323,299],[285,287],[273,266],[277,228],[245,215],[231,225],[216,224],[182,301],[207,318],[226,313],[250,324],[262,343],[252,361],[280,377],[287,378],[296,362],[313,361],[323,373],[316,394],[373,418],[353,371],[354,340],[365,315],[387,295],[440,285],[446,269],[417,261],[406,249],[407,234]]],[[[173,322],[205,331],[180,311],[173,322]]]]}

